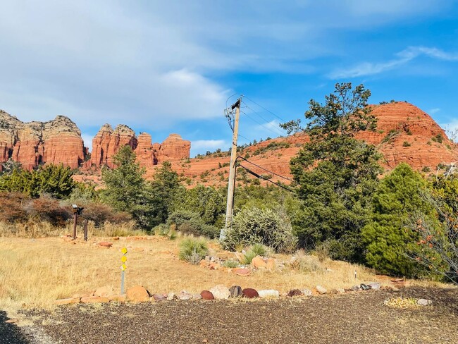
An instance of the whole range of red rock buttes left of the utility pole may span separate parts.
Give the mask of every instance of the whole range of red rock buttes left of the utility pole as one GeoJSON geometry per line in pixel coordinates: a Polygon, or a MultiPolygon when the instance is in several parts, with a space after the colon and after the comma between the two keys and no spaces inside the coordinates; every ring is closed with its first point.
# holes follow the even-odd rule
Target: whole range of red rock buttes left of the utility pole
{"type": "Polygon", "coordinates": [[[113,154],[125,145],[132,147],[137,161],[147,169],[166,160],[190,157],[191,142],[182,140],[178,134],[169,135],[161,144],[153,144],[147,133],[140,133],[137,138],[127,125],[120,124],[113,130],[111,125],[105,124],[92,140],[89,159],[80,129],[70,118],[57,116],[53,121],[23,123],[0,110],[0,164],[13,159],[27,170],[41,164],[113,168],[113,154]]]}

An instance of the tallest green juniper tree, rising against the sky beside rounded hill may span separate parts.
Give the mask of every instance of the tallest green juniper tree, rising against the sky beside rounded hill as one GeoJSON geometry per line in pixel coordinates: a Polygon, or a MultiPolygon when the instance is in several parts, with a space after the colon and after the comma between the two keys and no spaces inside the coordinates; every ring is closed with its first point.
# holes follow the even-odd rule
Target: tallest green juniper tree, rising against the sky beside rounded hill
{"type": "Polygon", "coordinates": [[[363,85],[335,85],[325,104],[314,99],[300,121],[285,123],[289,133],[304,130],[310,137],[290,161],[302,199],[302,211],[293,225],[299,245],[314,247],[330,241],[333,257],[361,262],[364,247],[360,231],[369,219],[371,194],[378,183],[380,154],[373,145],[357,140],[361,130],[375,130],[376,118],[363,85]]]}

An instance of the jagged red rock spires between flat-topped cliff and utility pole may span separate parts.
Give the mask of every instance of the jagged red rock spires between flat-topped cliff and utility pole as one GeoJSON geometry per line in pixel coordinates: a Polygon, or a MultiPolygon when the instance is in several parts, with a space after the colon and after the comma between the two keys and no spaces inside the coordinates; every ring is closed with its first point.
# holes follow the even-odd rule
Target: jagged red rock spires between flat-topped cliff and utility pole
{"type": "Polygon", "coordinates": [[[140,133],[137,138],[135,132],[127,125],[118,125],[113,130],[111,125],[105,124],[92,140],[91,163],[113,168],[111,157],[125,145],[132,147],[140,166],[147,169],[163,161],[187,159],[190,157],[191,149],[191,142],[182,140],[178,134],[169,135],[161,144],[153,144],[151,135],[147,133],[140,133]]]}

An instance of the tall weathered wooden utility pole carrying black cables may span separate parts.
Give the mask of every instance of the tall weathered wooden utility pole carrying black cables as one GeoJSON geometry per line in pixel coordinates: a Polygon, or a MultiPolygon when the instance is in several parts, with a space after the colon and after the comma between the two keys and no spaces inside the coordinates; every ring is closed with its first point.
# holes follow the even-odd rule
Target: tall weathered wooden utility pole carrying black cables
{"type": "Polygon", "coordinates": [[[240,102],[242,97],[237,99],[231,106],[231,112],[235,109],[234,128],[233,128],[233,145],[230,149],[230,165],[229,165],[229,183],[228,183],[228,204],[225,211],[225,227],[221,229],[219,240],[225,238],[226,231],[233,224],[233,211],[234,211],[234,189],[235,189],[235,159],[237,159],[237,137],[239,132],[239,118],[240,118],[240,102]]]}

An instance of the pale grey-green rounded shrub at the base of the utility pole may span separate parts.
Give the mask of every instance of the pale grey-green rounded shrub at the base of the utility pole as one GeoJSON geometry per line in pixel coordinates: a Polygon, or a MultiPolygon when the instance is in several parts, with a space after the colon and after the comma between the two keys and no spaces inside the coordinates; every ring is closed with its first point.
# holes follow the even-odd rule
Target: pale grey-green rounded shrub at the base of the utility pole
{"type": "Polygon", "coordinates": [[[235,250],[239,244],[262,244],[275,252],[293,252],[297,238],[285,214],[273,209],[250,207],[242,209],[234,217],[233,226],[221,244],[226,250],[235,250]]]}

